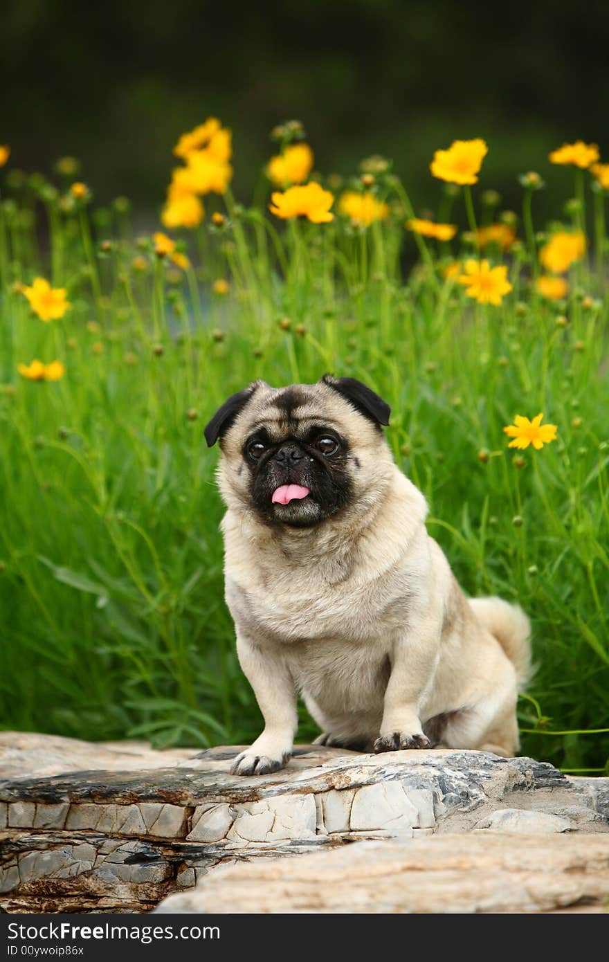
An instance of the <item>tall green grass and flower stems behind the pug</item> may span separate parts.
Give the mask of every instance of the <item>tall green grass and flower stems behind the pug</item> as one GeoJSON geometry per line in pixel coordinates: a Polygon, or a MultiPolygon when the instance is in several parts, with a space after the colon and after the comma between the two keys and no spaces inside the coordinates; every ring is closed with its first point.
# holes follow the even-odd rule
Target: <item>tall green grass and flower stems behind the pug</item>
{"type": "MultiPolygon", "coordinates": [[[[464,589],[518,599],[531,616],[538,671],[520,701],[522,750],[566,769],[605,768],[599,251],[571,269],[569,300],[553,303],[532,289],[530,248],[489,250],[514,291],[481,306],[439,269],[471,251],[467,236],[452,252],[435,241],[418,251],[392,178],[377,190],[393,215],[368,229],[338,217],[286,229],[261,205],[235,211],[228,198],[224,227],[185,233],[187,271],[133,240],[124,205],[91,214],[39,178],[13,188],[0,222],[3,727],[157,745],[258,734],[222,599],[217,451],[202,429],[255,378],[280,386],[330,370],[391,404],[395,460],[427,497],[428,530],[464,589]],[[14,290],[38,275],[68,288],[62,319],[43,323],[14,290]],[[230,281],[225,296],[212,291],[218,277],[230,281]],[[63,379],[19,377],[17,364],[35,357],[63,361],[63,379]],[[517,468],[502,428],[540,411],[558,439],[527,449],[517,468]]],[[[460,200],[456,217],[465,227],[460,200]]],[[[303,712],[300,737],[315,732],[303,712]]]]}

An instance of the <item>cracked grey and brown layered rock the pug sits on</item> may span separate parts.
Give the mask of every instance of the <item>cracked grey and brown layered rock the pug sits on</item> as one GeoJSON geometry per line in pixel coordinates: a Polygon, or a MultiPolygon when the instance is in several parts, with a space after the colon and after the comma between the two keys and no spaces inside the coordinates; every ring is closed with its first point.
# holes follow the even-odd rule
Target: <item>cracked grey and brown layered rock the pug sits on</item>
{"type": "Polygon", "coordinates": [[[0,734],[0,910],[147,911],[236,858],[300,860],[483,825],[475,837],[491,837],[506,810],[570,835],[609,831],[609,779],[530,758],[299,746],[284,771],[244,778],[229,771],[240,750],[0,734]]]}

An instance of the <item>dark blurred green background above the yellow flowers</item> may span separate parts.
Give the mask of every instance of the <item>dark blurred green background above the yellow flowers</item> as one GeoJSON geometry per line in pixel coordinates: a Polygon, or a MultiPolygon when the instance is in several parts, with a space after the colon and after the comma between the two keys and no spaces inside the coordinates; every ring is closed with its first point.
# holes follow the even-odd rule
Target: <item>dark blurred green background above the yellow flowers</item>
{"type": "MultiPolygon", "coordinates": [[[[483,184],[520,208],[516,175],[565,171],[547,152],[589,139],[609,156],[609,4],[449,0],[13,0],[3,5],[0,142],[13,165],[84,163],[101,201],[154,218],[178,135],[216,114],[234,130],[235,190],[251,197],[277,122],[302,120],[318,169],[393,158],[418,213],[437,204],[433,151],[483,137],[483,184]]],[[[564,184],[564,180],[563,180],[564,184]]],[[[564,194],[564,188],[563,188],[564,194]]],[[[542,214],[555,203],[536,197],[542,214]],[[546,207],[547,205],[547,207],[546,207]]]]}

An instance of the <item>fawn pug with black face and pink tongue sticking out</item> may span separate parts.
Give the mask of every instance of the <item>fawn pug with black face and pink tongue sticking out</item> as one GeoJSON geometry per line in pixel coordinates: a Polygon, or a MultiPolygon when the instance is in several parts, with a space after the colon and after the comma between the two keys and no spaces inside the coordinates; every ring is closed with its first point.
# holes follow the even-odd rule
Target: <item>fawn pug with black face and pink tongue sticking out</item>
{"type": "Polygon", "coordinates": [[[301,694],[320,745],[360,751],[519,748],[529,621],[466,598],[396,467],[390,408],[350,377],[233,394],[219,439],[225,597],[265,720],[232,772],[283,768],[301,694]]]}

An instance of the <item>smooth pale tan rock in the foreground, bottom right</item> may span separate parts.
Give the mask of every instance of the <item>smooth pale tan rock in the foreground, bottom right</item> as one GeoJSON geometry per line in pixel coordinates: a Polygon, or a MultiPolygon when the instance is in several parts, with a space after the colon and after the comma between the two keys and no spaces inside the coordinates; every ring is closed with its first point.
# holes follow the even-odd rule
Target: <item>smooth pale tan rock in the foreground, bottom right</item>
{"type": "Polygon", "coordinates": [[[609,898],[609,835],[436,835],[226,867],[157,912],[553,912],[609,898]]]}

